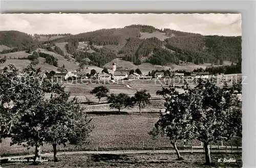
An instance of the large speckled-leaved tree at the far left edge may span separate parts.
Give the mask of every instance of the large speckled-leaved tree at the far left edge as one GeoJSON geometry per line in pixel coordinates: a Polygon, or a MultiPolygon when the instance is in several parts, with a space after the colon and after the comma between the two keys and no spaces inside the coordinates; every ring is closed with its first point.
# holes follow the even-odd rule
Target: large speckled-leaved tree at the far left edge
{"type": "Polygon", "coordinates": [[[18,144],[25,147],[35,146],[35,158],[40,158],[40,146],[44,142],[42,121],[44,118],[36,114],[42,113],[45,93],[63,92],[58,83],[44,80],[40,76],[40,69],[28,66],[19,77],[15,66],[5,67],[1,71],[1,138],[11,137],[11,145],[18,144]],[[20,132],[23,132],[21,135],[20,132]]]}

